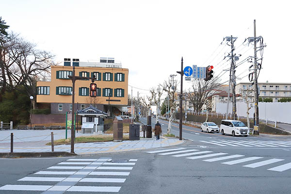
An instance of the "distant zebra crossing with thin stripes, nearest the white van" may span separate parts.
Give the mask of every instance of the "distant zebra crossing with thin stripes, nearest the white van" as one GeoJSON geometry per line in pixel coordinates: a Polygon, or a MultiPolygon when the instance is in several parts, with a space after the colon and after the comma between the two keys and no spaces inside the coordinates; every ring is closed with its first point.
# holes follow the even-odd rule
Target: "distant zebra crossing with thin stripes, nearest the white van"
{"type": "Polygon", "coordinates": [[[260,141],[260,140],[237,140],[237,141],[199,141],[203,143],[207,143],[210,145],[215,146],[233,146],[233,147],[291,147],[291,142],[284,142],[284,141],[260,141]]]}

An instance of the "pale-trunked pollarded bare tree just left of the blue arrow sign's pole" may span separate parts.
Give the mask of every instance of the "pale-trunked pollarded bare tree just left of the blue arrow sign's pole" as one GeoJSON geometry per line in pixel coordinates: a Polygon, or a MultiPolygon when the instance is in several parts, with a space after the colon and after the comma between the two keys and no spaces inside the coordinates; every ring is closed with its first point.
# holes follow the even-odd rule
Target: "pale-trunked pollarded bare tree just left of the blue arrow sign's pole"
{"type": "Polygon", "coordinates": [[[178,107],[178,105],[175,103],[175,100],[177,100],[177,96],[175,96],[176,90],[177,90],[177,80],[168,80],[164,81],[162,89],[168,94],[169,97],[169,107],[170,107],[170,120],[169,120],[169,125],[167,129],[167,134],[171,134],[171,129],[172,129],[172,123],[174,119],[174,111],[178,107]]]}

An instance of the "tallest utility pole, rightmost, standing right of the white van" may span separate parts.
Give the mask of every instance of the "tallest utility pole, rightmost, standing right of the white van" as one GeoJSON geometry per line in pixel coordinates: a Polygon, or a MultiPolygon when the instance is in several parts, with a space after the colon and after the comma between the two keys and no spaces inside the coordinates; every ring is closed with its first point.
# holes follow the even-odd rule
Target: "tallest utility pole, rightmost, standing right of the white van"
{"type": "MultiPolygon", "coordinates": [[[[254,70],[255,70],[255,126],[257,130],[254,129],[254,134],[259,135],[259,95],[258,95],[258,76],[257,76],[257,42],[256,42],[256,19],[254,19],[254,70]]],[[[260,48],[261,49],[261,48],[260,48]]],[[[254,127],[255,128],[255,127],[254,127]]]]}

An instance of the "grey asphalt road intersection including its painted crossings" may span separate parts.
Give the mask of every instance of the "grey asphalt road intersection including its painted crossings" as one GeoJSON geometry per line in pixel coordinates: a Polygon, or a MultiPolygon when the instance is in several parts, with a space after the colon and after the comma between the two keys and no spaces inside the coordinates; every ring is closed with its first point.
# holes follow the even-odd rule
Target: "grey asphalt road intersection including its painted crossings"
{"type": "Polygon", "coordinates": [[[290,193],[291,138],[222,136],[186,126],[183,136],[192,141],[72,158],[1,159],[0,193],[290,193]]]}

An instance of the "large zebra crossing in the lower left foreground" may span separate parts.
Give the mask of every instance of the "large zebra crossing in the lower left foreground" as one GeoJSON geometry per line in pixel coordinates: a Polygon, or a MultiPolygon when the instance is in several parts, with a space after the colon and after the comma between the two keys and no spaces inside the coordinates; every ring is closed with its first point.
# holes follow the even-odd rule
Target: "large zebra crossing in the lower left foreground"
{"type": "Polygon", "coordinates": [[[50,166],[46,170],[18,179],[19,184],[4,185],[0,187],[0,191],[39,191],[42,192],[41,194],[56,194],[56,192],[58,194],[65,192],[118,193],[135,162],[137,159],[123,160],[120,163],[111,158],[68,159],[50,166]],[[47,184],[43,184],[43,182],[47,184]],[[89,186],[84,186],[83,183],[89,184],[89,186]],[[101,186],[102,183],[105,183],[106,186],[101,186]]]}

